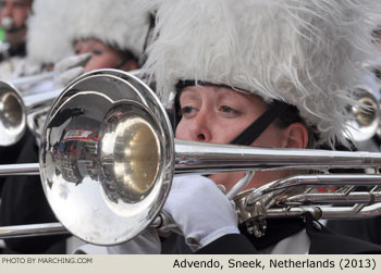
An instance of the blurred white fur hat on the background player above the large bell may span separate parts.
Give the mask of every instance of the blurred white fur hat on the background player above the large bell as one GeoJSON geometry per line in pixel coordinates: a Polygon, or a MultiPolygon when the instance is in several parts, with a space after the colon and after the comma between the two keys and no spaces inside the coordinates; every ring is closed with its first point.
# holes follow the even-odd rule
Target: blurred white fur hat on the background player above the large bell
{"type": "Polygon", "coordinates": [[[72,42],[96,38],[120,50],[128,50],[136,58],[142,55],[150,22],[139,0],[70,1],[74,2],[70,14],[72,42]]]}

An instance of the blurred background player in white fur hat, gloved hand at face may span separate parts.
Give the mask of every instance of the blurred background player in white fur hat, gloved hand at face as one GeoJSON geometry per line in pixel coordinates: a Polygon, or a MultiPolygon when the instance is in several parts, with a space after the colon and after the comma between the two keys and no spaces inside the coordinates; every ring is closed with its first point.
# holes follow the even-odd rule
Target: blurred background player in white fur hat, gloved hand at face
{"type": "Polygon", "coordinates": [[[93,70],[137,70],[150,23],[148,13],[134,8],[138,1],[97,0],[91,1],[91,4],[100,9],[94,10],[86,10],[86,0],[74,2],[69,39],[76,55],[56,64],[56,87],[64,87],[81,74],[93,70]],[[123,18],[122,15],[105,16],[105,11],[107,14],[116,14],[120,10],[125,12],[123,18]]]}

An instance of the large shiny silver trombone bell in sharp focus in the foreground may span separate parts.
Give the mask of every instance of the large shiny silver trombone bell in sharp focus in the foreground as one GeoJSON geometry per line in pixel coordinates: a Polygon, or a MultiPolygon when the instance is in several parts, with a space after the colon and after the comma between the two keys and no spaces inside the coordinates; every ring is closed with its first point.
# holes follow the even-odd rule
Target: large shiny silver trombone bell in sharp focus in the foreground
{"type": "Polygon", "coordinates": [[[171,128],[135,76],[102,70],[74,80],[41,136],[41,182],[59,221],[97,245],[124,242],[149,226],[172,182],[171,128]]]}

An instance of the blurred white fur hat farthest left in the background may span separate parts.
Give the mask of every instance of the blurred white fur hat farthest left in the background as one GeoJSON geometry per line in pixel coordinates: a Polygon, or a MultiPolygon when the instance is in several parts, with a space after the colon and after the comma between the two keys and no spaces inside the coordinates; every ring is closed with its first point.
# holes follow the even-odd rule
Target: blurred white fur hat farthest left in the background
{"type": "Polygon", "coordinates": [[[62,0],[34,0],[27,21],[27,59],[34,64],[50,64],[74,54],[65,24],[69,7],[62,0]]]}

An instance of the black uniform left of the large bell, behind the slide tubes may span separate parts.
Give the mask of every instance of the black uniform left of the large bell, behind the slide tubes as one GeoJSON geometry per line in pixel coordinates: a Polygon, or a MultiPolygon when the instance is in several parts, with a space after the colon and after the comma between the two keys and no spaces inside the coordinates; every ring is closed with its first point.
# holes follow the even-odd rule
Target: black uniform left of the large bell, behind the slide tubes
{"type": "MultiPolygon", "coordinates": [[[[23,139],[16,162],[38,162],[35,137],[27,133],[23,139]]],[[[1,226],[54,222],[58,221],[45,197],[39,176],[7,177],[1,194],[1,226]]],[[[65,253],[66,237],[60,235],[5,239],[7,248],[2,253],[65,253]]]]}

